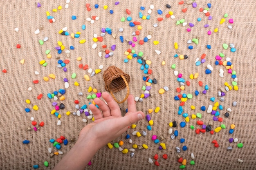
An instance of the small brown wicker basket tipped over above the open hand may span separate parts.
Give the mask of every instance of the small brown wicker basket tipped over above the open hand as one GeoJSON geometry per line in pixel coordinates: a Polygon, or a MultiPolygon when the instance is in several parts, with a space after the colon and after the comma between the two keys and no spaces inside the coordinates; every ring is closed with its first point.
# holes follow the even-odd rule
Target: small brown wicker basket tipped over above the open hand
{"type": "Polygon", "coordinates": [[[130,82],[130,76],[121,71],[116,66],[109,66],[103,73],[103,79],[105,82],[106,91],[110,92],[112,97],[117,103],[124,103],[129,96],[130,88],[128,83],[130,82]],[[121,102],[117,101],[113,93],[121,91],[127,88],[126,97],[121,102]]]}

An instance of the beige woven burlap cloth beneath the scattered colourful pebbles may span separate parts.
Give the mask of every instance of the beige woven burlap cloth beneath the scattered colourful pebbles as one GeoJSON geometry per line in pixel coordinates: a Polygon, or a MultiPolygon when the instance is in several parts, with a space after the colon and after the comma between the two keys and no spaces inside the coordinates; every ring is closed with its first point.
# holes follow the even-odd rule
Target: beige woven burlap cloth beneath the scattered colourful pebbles
{"type": "MultiPolygon", "coordinates": [[[[38,164],[39,169],[52,169],[58,161],[72,148],[74,143],[69,142],[66,146],[62,145],[61,151],[63,155],[55,155],[50,158],[48,148],[53,148],[53,152],[56,152],[56,148],[52,146],[49,139],[57,139],[61,135],[67,139],[74,138],[75,141],[79,135],[81,128],[86,124],[82,119],[84,115],[77,117],[74,115],[67,116],[65,112],[70,110],[71,113],[76,111],[74,100],[78,99],[82,104],[88,104],[91,100],[86,99],[89,94],[87,92],[88,87],[92,86],[97,88],[99,92],[105,91],[103,82],[103,71],[108,66],[115,65],[128,73],[131,77],[130,81],[130,94],[134,96],[140,96],[143,91],[141,87],[145,85],[142,77],[143,72],[139,69],[140,64],[135,59],[129,60],[128,63],[124,63],[126,56],[124,52],[131,48],[128,43],[121,43],[119,36],[123,35],[124,38],[132,40],[131,33],[136,31],[136,27],[131,28],[128,25],[128,21],[120,22],[122,17],[127,17],[125,13],[126,9],[130,9],[132,21],[140,21],[142,30],[140,35],[137,36],[138,40],[143,39],[148,35],[148,31],[153,31],[152,39],[144,45],[139,45],[138,42],[135,49],[136,53],[143,51],[144,56],[148,60],[152,61],[150,68],[153,70],[153,74],[150,78],[156,78],[157,84],[152,85],[150,93],[154,94],[153,98],[144,99],[143,102],[137,102],[137,110],[143,111],[145,114],[149,108],[155,109],[160,107],[159,113],[151,113],[151,119],[154,124],[152,130],[146,130],[148,122],[146,119],[137,122],[135,129],[128,129],[126,133],[115,139],[111,143],[124,141],[123,148],[131,148],[132,144],[129,144],[125,139],[127,133],[131,135],[132,131],[146,130],[146,137],[135,137],[131,135],[133,144],[142,145],[147,144],[148,149],[136,150],[135,156],[130,157],[130,153],[122,154],[117,148],[110,150],[107,146],[103,147],[92,159],[92,166],[87,166],[85,169],[92,170],[139,170],[139,169],[178,169],[181,165],[177,162],[177,152],[175,147],[186,145],[188,150],[182,151],[181,156],[187,159],[186,169],[198,169],[198,170],[216,170],[216,169],[229,169],[229,170],[248,170],[256,168],[256,153],[255,153],[255,133],[256,133],[256,116],[255,116],[255,30],[256,20],[254,13],[254,0],[236,0],[236,1],[204,1],[196,0],[198,7],[192,8],[191,5],[186,4],[178,5],[177,0],[144,0],[144,1],[124,1],[120,0],[120,4],[115,6],[114,1],[82,1],[71,0],[69,8],[65,9],[65,0],[5,0],[0,2],[0,70],[7,69],[7,73],[0,73],[0,169],[12,169],[12,170],[29,170],[33,169],[33,165],[38,164]],[[42,5],[40,8],[36,7],[37,2],[42,5]],[[85,4],[90,3],[92,10],[86,11],[85,4]],[[99,4],[99,9],[94,8],[94,4],[99,4]],[[213,16],[213,20],[207,20],[207,17],[202,12],[199,12],[199,8],[207,7],[207,3],[211,3],[212,7],[209,10],[213,16]],[[155,5],[150,20],[142,20],[139,18],[139,8],[144,6],[146,9],[141,11],[144,15],[148,15],[146,11],[149,9],[150,4],[155,5]],[[165,7],[166,4],[171,5],[171,9],[165,7]],[[58,10],[56,13],[52,12],[52,9],[56,9],[59,5],[63,9],[58,10]],[[107,10],[103,10],[103,5],[108,5],[107,10]],[[182,13],[182,9],[187,8],[186,13],[182,13]],[[109,10],[112,9],[114,13],[111,15],[109,10]],[[157,9],[163,11],[163,15],[168,11],[173,11],[175,19],[165,18],[162,22],[157,21],[157,9]],[[46,18],[46,11],[49,11],[56,19],[55,23],[49,23],[46,18]],[[228,13],[228,18],[234,19],[233,28],[229,30],[227,28],[228,22],[222,25],[219,24],[223,15],[228,13]],[[71,20],[71,16],[76,15],[76,20],[71,20]],[[86,18],[91,18],[93,15],[99,16],[99,20],[94,24],[86,21],[86,18]],[[201,22],[197,22],[198,17],[202,18],[201,22]],[[186,22],[192,22],[195,26],[190,33],[186,32],[186,26],[176,26],[177,20],[184,18],[186,22]],[[158,27],[154,28],[153,24],[157,23],[158,27]],[[34,31],[39,28],[40,25],[44,25],[44,29],[37,35],[34,31]],[[81,25],[85,24],[86,29],[81,30],[81,25]],[[203,28],[204,24],[209,24],[209,28],[203,28]],[[58,31],[67,26],[69,33],[75,33],[81,31],[81,37],[78,39],[72,39],[70,36],[59,35],[58,31]],[[19,31],[15,32],[14,28],[18,27],[19,31]],[[97,49],[92,49],[93,34],[100,35],[101,28],[109,27],[113,33],[117,34],[117,39],[114,40],[111,35],[106,35],[103,42],[97,42],[97,49]],[[119,33],[119,28],[124,28],[122,33],[119,33]],[[218,33],[214,33],[213,29],[218,27],[218,33]],[[211,30],[212,35],[207,35],[207,31],[211,30]],[[49,40],[42,46],[38,43],[38,40],[43,40],[45,37],[49,37],[49,40]],[[193,39],[196,36],[200,37],[199,44],[192,44],[193,50],[189,50],[186,43],[189,39],[193,39]],[[86,39],[85,44],[79,44],[79,40],[86,39]],[[153,40],[159,41],[158,45],[153,45],[153,40]],[[63,42],[66,49],[69,49],[70,45],[75,49],[70,53],[70,63],[67,64],[67,72],[63,72],[62,69],[56,68],[56,57],[60,57],[61,60],[67,59],[65,53],[58,54],[54,49],[57,46],[57,42],[63,42]],[[187,60],[179,60],[174,58],[175,49],[173,43],[179,44],[179,50],[188,55],[187,60]],[[235,53],[230,52],[230,48],[224,50],[222,48],[223,43],[234,43],[237,51],[235,53]],[[21,44],[21,48],[17,49],[16,44],[21,44]],[[116,44],[117,48],[114,51],[114,55],[108,59],[99,57],[98,53],[101,51],[101,46],[106,44],[110,49],[112,44],[116,44]],[[207,49],[206,45],[211,44],[212,49],[207,49]],[[47,59],[45,50],[50,49],[52,58],[47,59]],[[162,53],[157,55],[155,50],[159,50],[162,53]],[[195,66],[195,59],[200,57],[202,53],[206,53],[206,63],[200,66],[195,66]],[[237,72],[238,77],[238,91],[229,91],[226,93],[225,102],[220,102],[217,95],[219,88],[224,87],[224,82],[231,84],[231,76],[227,73],[223,66],[215,66],[215,56],[219,53],[224,53],[225,57],[231,57],[231,62],[234,64],[234,69],[237,72]],[[82,60],[77,61],[76,58],[81,56],[82,60]],[[20,60],[25,59],[25,64],[20,64],[20,60]],[[40,60],[46,60],[48,65],[43,67],[39,64],[40,60]],[[166,65],[162,66],[162,61],[166,62],[166,65]],[[79,64],[88,64],[89,68],[97,69],[99,65],[103,64],[104,68],[101,73],[91,77],[89,82],[86,82],[83,76],[87,73],[83,69],[78,67],[79,64]],[[186,86],[182,93],[194,94],[195,90],[200,92],[199,96],[194,96],[186,102],[184,113],[188,113],[191,117],[192,114],[202,113],[202,121],[207,124],[212,119],[210,114],[201,112],[201,106],[209,106],[213,104],[210,101],[211,97],[216,97],[216,101],[222,104],[224,110],[220,112],[220,117],[223,117],[223,124],[227,126],[226,129],[222,129],[219,133],[210,135],[207,133],[195,134],[194,130],[189,128],[190,125],[196,125],[196,120],[191,119],[186,124],[185,128],[180,128],[180,121],[184,121],[181,115],[177,115],[179,102],[175,101],[173,97],[177,95],[176,88],[179,87],[179,83],[176,81],[176,77],[173,75],[174,69],[171,69],[171,65],[176,64],[176,69],[179,73],[183,74],[186,80],[190,80],[191,86],[186,86]],[[210,75],[205,75],[204,71],[207,68],[207,64],[213,66],[213,72],[210,75]],[[222,68],[225,71],[224,78],[218,76],[219,69],[222,68]],[[34,72],[38,71],[40,74],[35,75],[34,72]],[[190,74],[198,72],[199,78],[191,80],[190,74]],[[50,73],[56,75],[56,79],[50,79],[48,82],[43,81],[43,77],[48,76],[50,73]],[[76,79],[71,79],[72,73],[76,73],[76,79]],[[62,125],[57,126],[58,118],[51,115],[50,112],[54,107],[52,106],[52,99],[47,98],[47,93],[58,91],[60,88],[64,88],[63,78],[68,78],[70,82],[70,88],[67,89],[65,94],[65,109],[61,110],[62,125]],[[38,79],[38,84],[33,84],[32,81],[38,79]],[[79,82],[79,86],[74,86],[74,82],[79,82]],[[198,81],[202,81],[204,86],[209,85],[209,90],[206,95],[202,95],[204,86],[199,87],[198,81]],[[32,91],[28,91],[29,86],[32,87],[32,91]],[[163,86],[168,86],[169,91],[163,95],[158,94],[158,90],[163,86]],[[83,96],[79,96],[78,93],[83,92],[83,96]],[[38,100],[36,97],[42,93],[43,98],[38,100]],[[25,103],[26,99],[31,100],[31,104],[25,103]],[[237,106],[233,107],[232,102],[237,101],[237,106]],[[32,106],[37,105],[39,110],[35,111],[32,106]],[[195,110],[191,110],[190,106],[194,105],[195,110]],[[26,113],[25,108],[30,108],[31,112],[26,113]],[[227,108],[231,108],[229,118],[224,117],[227,108]],[[27,131],[27,126],[31,126],[30,117],[34,117],[37,122],[44,121],[45,126],[39,131],[34,130],[27,131]],[[179,131],[179,136],[174,140],[170,138],[168,134],[169,122],[176,120],[178,123],[177,128],[174,130],[179,131]],[[230,124],[235,124],[233,134],[229,134],[230,124]],[[151,140],[152,135],[164,136],[163,141],[167,149],[158,150],[158,144],[154,144],[151,140]],[[243,148],[236,147],[236,143],[229,143],[229,138],[238,138],[238,142],[243,143],[243,148]],[[185,138],[186,141],[180,144],[180,138],[185,138]],[[22,144],[23,140],[30,140],[30,144],[22,144]],[[216,139],[219,148],[215,148],[211,141],[216,139]],[[232,146],[233,150],[228,151],[227,146],[232,146]],[[190,154],[195,154],[195,165],[189,165],[191,161],[190,154]],[[155,154],[159,155],[159,164],[157,167],[154,164],[148,163],[148,158],[153,159],[155,154]],[[168,154],[168,159],[162,159],[163,154],[168,154]],[[242,159],[243,163],[238,163],[237,159],[242,159]],[[49,167],[44,167],[43,162],[48,161],[49,167]]],[[[125,90],[116,93],[115,95],[119,100],[124,97],[125,90]]],[[[58,101],[58,103],[60,103],[58,101]]],[[[120,104],[122,113],[125,114],[127,102],[120,104]]],[[[216,128],[222,124],[220,122],[214,122],[213,128],[216,128]]],[[[109,135],[109,134],[106,134],[109,135]]],[[[97,141],[95,141],[97,145],[97,141]]],[[[86,152],[86,150],[81,152],[86,152]]],[[[76,159],[71,157],[70,159],[76,159]]]]}

